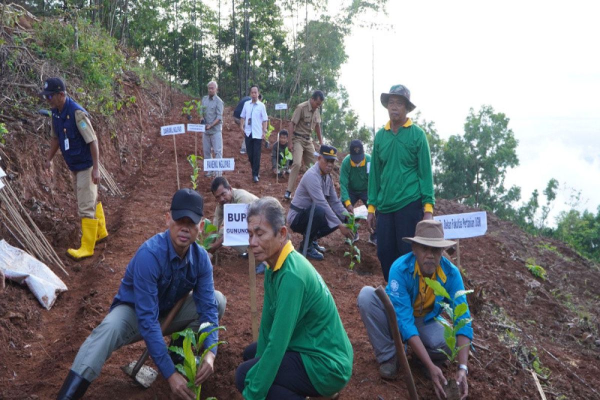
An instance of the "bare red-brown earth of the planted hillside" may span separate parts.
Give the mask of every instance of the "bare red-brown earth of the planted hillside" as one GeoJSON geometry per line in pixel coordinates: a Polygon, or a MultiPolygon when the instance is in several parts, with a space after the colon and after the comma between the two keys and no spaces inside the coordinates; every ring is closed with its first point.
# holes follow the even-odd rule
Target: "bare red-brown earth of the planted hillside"
{"type": "MultiPolygon", "coordinates": [[[[4,153],[0,153],[0,165],[12,178],[8,184],[26,207],[34,209],[32,217],[67,265],[69,276],[51,267],[69,290],[59,296],[50,311],[43,309],[26,287],[7,282],[0,293],[2,399],[56,396],[77,349],[106,315],[128,261],[146,239],[165,229],[164,213],[177,183],[173,139],[160,137],[159,127],[185,122],[180,114],[187,98],[160,83],[141,88],[134,80],[124,79],[124,88],[127,95],[136,96],[136,104],[124,108],[116,119],[95,116],[92,120],[100,138],[101,161],[124,196],[112,197],[100,191],[110,236],[97,245],[93,257],[79,263],[64,255],[79,240],[70,176],[60,155],[55,158],[52,174],[42,168],[49,143],[44,134],[48,122],[34,115],[7,121],[10,134],[6,146],[0,149],[4,153]],[[165,110],[164,119],[161,110],[165,110]]],[[[241,133],[231,115],[232,109],[226,107],[224,157],[235,158],[236,170],[224,175],[235,188],[281,199],[286,182],[275,182],[270,150],[263,149],[259,184],[251,182],[247,157],[239,154],[241,133]]],[[[279,121],[272,123],[277,132],[279,121]]],[[[202,140],[200,136],[198,139],[198,153],[202,154],[202,140]]],[[[176,145],[179,179],[182,187],[190,187],[191,168],[185,157],[194,152],[193,134],[177,136],[176,145]]],[[[209,185],[210,179],[200,173],[199,191],[205,198],[205,214],[212,218],[215,200],[209,185]]],[[[436,203],[437,214],[469,211],[472,209],[451,201],[436,203]]],[[[16,245],[3,229],[0,228],[0,237],[16,245]]],[[[401,379],[379,378],[356,308],[356,296],[364,285],[383,283],[376,249],[366,242],[364,227],[360,232],[362,263],[355,270],[347,269],[348,260],[343,257],[346,245],[338,232],[321,240],[327,248],[325,260],[313,262],[335,298],[354,348],[352,379],[340,398],[407,399],[401,379]]],[[[297,234],[293,236],[296,245],[299,239],[297,234]]],[[[452,257],[455,263],[456,256],[454,253],[452,257]]],[[[525,234],[515,224],[491,214],[485,236],[461,240],[460,265],[467,286],[475,289],[469,296],[475,330],[475,348],[469,360],[469,398],[540,398],[529,371],[538,356],[547,368],[538,367],[539,374],[550,372],[540,377],[548,399],[600,399],[598,266],[563,243],[525,234]],[[535,278],[526,269],[525,260],[530,257],[545,268],[546,281],[535,278]]],[[[227,311],[221,320],[227,331],[220,335],[227,344],[219,348],[215,374],[203,385],[202,398],[241,399],[235,389],[234,374],[242,361],[243,348],[251,341],[247,260],[229,249],[220,251],[214,279],[215,287],[227,296],[227,311]]],[[[259,315],[262,282],[259,275],[259,315]]],[[[86,398],[171,398],[169,385],[162,377],[149,389],[142,389],[119,368],[136,360],[143,348],[143,342],[139,342],[115,351],[100,378],[89,387],[86,398]]],[[[148,364],[154,366],[151,360],[148,364]]],[[[430,382],[412,362],[411,366],[421,398],[434,398],[430,382]]],[[[446,376],[454,371],[454,367],[444,369],[446,376]]]]}

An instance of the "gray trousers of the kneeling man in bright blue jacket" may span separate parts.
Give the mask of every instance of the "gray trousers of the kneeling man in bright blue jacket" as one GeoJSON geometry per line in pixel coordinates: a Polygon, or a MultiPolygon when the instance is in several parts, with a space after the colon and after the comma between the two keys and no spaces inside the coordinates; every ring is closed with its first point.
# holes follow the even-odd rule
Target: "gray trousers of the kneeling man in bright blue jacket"
{"type": "MultiPolygon", "coordinates": [[[[388,317],[385,315],[383,303],[377,297],[375,288],[365,286],[358,294],[358,309],[362,323],[365,324],[369,341],[375,351],[378,363],[386,362],[396,354],[394,339],[389,331],[388,317]]],[[[415,326],[419,331],[419,338],[432,361],[445,359],[445,354],[438,351],[443,348],[449,351],[444,340],[444,327],[436,320],[425,323],[424,317],[415,317],[415,326]]],[[[404,339],[403,339],[404,341],[404,339]]]]}

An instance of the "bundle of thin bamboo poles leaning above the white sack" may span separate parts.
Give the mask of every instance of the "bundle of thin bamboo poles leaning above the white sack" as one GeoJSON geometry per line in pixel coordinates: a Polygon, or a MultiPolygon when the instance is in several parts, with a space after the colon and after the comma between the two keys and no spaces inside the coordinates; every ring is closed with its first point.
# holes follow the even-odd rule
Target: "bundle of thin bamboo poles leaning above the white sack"
{"type": "Polygon", "coordinates": [[[65,270],[65,265],[58,257],[40,228],[37,227],[29,213],[23,207],[23,204],[14,193],[13,189],[6,182],[0,189],[0,215],[2,215],[2,225],[13,235],[23,249],[34,255],[38,260],[47,264],[56,264],[62,272],[69,275],[65,270]],[[23,219],[29,222],[29,224],[23,219]]]}

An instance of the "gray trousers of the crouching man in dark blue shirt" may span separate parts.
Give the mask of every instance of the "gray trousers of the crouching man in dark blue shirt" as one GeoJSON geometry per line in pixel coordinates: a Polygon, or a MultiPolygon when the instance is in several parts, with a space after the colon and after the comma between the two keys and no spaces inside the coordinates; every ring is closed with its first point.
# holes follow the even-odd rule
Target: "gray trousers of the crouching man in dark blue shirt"
{"type": "MultiPolygon", "coordinates": [[[[227,299],[223,293],[215,290],[215,300],[217,300],[219,319],[221,319],[225,312],[227,299]]],[[[165,318],[166,316],[160,318],[160,321],[162,322],[165,318]]],[[[198,318],[196,303],[190,294],[164,335],[179,332],[187,327],[197,330],[200,327],[198,318]]],[[[126,304],[118,305],[85,339],[77,352],[73,365],[71,365],[71,370],[91,382],[100,376],[104,362],[109,359],[113,351],[140,340],[142,340],[142,336],[137,328],[135,309],[126,304]]]]}

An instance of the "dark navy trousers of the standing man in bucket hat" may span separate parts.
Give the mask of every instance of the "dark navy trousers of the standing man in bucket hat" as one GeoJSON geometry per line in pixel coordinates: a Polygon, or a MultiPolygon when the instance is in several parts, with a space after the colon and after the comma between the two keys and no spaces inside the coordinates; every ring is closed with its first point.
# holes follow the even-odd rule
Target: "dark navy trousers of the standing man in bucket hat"
{"type": "Polygon", "coordinates": [[[386,282],[392,263],[412,251],[412,245],[402,238],[415,236],[416,224],[423,219],[423,215],[421,200],[413,201],[395,212],[376,213],[377,258],[386,282]]]}

